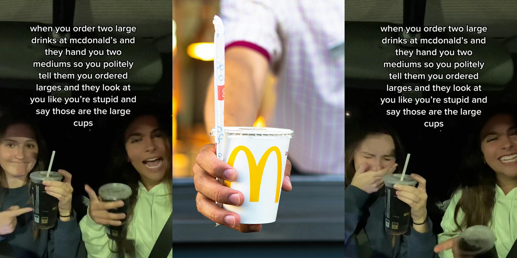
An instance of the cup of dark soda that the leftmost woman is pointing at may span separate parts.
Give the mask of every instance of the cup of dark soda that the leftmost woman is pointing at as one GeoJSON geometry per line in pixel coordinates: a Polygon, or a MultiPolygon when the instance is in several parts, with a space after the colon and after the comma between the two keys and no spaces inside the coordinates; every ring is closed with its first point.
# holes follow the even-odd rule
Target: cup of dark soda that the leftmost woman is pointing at
{"type": "Polygon", "coordinates": [[[38,229],[53,228],[57,221],[57,205],[59,200],[49,195],[43,181],[61,181],[63,175],[54,171],[36,171],[29,175],[31,178],[31,195],[34,207],[34,225],[38,229]]]}

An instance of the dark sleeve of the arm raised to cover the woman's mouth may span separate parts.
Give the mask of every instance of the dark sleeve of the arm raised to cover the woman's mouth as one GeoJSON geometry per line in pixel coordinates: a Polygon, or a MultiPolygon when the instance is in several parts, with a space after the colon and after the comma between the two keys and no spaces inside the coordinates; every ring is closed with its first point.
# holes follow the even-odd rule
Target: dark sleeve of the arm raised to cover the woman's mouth
{"type": "Polygon", "coordinates": [[[345,189],[345,246],[357,229],[370,194],[356,186],[345,189]]]}

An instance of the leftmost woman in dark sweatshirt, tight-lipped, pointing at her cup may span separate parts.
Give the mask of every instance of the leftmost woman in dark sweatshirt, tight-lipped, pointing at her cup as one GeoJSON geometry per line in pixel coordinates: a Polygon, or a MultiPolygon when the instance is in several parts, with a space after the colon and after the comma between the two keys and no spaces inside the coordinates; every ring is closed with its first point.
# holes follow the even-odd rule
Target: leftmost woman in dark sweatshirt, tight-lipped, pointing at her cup
{"type": "Polygon", "coordinates": [[[59,200],[51,229],[34,224],[29,174],[47,169],[47,150],[37,127],[17,115],[0,118],[0,253],[8,257],[85,257],[81,231],[72,209],[72,175],[43,181],[46,193],[59,200]],[[82,253],[81,253],[82,252],[82,253]]]}

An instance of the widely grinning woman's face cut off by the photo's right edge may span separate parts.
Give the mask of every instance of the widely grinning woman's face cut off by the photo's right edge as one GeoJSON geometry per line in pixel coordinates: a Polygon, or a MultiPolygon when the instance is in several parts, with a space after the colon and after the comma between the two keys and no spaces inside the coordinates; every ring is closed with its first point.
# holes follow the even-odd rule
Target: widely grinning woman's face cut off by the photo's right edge
{"type": "Polygon", "coordinates": [[[517,177],[517,132],[510,115],[493,116],[481,130],[486,164],[499,176],[517,177]]]}

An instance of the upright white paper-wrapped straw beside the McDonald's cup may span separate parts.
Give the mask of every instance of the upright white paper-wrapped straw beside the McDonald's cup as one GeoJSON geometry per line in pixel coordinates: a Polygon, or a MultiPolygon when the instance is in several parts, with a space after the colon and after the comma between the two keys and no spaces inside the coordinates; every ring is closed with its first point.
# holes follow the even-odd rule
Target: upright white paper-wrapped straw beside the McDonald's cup
{"type": "MultiPolygon", "coordinates": [[[[214,16],[214,110],[216,122],[216,153],[223,160],[224,150],[224,25],[221,18],[214,16]]],[[[221,181],[220,179],[217,179],[221,181]]],[[[222,182],[221,182],[222,183],[222,182]]],[[[217,203],[217,202],[216,202],[217,203]]],[[[222,207],[222,203],[217,203],[222,207]]],[[[219,224],[216,223],[216,227],[219,224]]]]}

